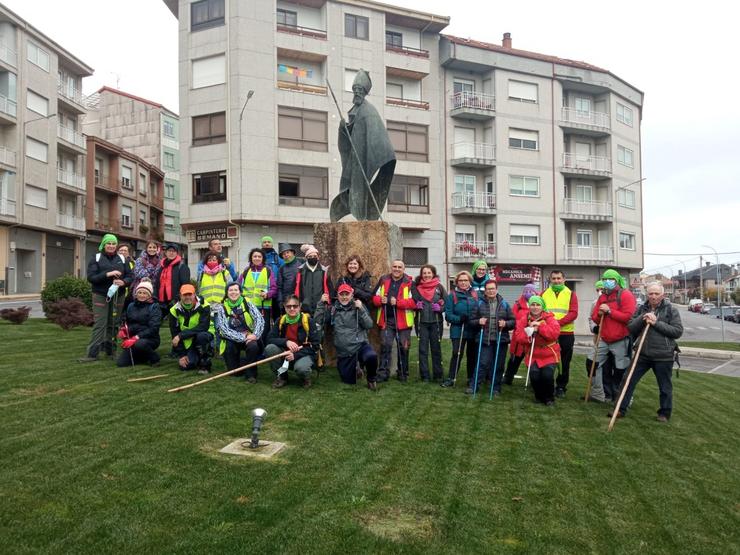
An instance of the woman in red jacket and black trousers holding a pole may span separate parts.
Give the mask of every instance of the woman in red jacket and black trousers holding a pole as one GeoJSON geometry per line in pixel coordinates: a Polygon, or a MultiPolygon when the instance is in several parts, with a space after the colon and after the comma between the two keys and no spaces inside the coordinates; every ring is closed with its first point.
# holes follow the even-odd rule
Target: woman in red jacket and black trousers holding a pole
{"type": "Polygon", "coordinates": [[[547,312],[545,301],[537,295],[531,296],[529,311],[522,311],[517,316],[514,338],[529,345],[524,363],[529,367],[535,399],[547,406],[555,404],[555,367],[560,362],[559,335],[560,324],[551,312],[547,312]]]}

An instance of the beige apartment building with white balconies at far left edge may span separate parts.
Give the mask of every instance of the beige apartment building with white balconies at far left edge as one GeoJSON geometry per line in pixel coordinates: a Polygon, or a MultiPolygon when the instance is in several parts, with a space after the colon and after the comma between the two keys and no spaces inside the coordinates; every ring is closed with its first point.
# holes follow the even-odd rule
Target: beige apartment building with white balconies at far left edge
{"type": "Polygon", "coordinates": [[[82,79],[93,69],[0,4],[0,294],[80,275],[82,79]]]}

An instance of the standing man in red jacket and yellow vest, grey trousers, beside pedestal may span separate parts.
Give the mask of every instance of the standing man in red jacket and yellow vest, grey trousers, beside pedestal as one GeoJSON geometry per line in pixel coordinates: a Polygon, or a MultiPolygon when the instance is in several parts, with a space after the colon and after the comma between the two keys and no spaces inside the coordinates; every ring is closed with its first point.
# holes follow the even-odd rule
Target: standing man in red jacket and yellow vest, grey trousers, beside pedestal
{"type": "Polygon", "coordinates": [[[373,305],[378,307],[377,323],[380,334],[380,364],[377,381],[390,377],[391,350],[395,339],[398,348],[397,377],[401,382],[409,379],[409,345],[414,327],[416,301],[411,295],[413,279],[406,274],[402,260],[391,262],[391,273],[380,278],[375,287],[373,305]]]}

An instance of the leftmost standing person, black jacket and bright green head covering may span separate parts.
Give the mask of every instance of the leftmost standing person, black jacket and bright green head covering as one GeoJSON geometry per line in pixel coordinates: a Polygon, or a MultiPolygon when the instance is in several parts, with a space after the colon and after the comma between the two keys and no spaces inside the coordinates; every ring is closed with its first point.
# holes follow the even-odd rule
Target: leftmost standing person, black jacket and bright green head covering
{"type": "Polygon", "coordinates": [[[118,254],[118,238],[106,233],[98,252],[87,264],[87,281],[92,285],[93,329],[90,344],[80,362],[94,362],[101,350],[113,356],[116,348],[116,320],[123,309],[124,291],[134,279],[126,259],[118,254]]]}

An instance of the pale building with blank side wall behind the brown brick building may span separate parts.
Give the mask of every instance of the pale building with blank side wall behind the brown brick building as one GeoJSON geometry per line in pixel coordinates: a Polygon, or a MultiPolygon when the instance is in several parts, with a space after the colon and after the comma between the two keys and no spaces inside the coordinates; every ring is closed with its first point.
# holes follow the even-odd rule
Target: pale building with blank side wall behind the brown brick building
{"type": "MultiPolygon", "coordinates": [[[[114,143],[164,172],[164,234],[143,235],[170,243],[183,243],[180,233],[180,142],[179,117],[162,104],[102,87],[88,97],[88,113],[83,123],[86,134],[114,143]]],[[[156,181],[156,179],[155,179],[156,181]]],[[[141,194],[139,199],[141,199],[141,194]]],[[[154,197],[156,198],[156,197],[154,197]]],[[[153,198],[149,198],[151,202],[153,198]]],[[[158,208],[155,205],[155,212],[158,208]]],[[[151,218],[145,218],[145,221],[151,218]]],[[[141,250],[145,245],[135,245],[141,250]]]]}

